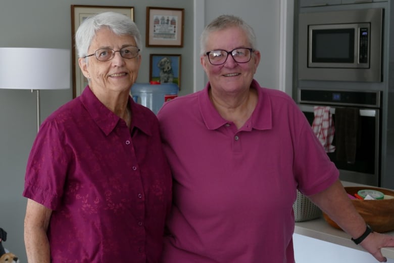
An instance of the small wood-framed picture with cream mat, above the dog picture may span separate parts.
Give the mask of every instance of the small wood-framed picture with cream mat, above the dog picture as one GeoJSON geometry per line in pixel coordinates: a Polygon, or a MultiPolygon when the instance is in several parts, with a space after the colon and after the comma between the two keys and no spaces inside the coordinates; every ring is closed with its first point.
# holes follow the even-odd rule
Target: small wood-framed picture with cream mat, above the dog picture
{"type": "Polygon", "coordinates": [[[183,8],[146,7],[146,47],[183,47],[183,8]]]}

